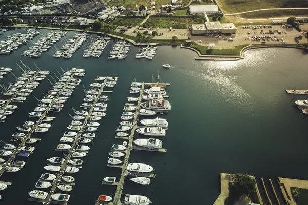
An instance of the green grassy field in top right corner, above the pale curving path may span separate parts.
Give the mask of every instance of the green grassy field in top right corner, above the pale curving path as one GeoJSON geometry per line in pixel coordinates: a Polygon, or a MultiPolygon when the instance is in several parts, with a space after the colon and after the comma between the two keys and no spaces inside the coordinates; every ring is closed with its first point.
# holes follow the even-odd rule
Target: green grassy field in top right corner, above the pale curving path
{"type": "Polygon", "coordinates": [[[228,13],[237,13],[264,8],[291,8],[308,7],[308,1],[305,0],[219,0],[223,10],[228,13]]]}

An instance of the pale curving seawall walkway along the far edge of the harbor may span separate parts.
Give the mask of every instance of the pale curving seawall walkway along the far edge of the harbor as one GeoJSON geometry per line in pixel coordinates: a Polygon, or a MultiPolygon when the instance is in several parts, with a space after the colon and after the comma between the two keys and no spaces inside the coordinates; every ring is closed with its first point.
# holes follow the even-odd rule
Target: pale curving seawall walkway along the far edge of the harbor
{"type": "MultiPolygon", "coordinates": [[[[87,32],[87,33],[93,33],[93,34],[104,34],[103,32],[99,31],[87,31],[87,30],[82,30],[82,29],[71,29],[71,28],[55,28],[55,27],[35,27],[35,26],[18,26],[18,25],[13,25],[13,26],[6,26],[7,28],[9,27],[19,27],[19,28],[38,28],[38,29],[53,29],[53,30],[64,30],[64,31],[77,31],[77,32],[87,32]]],[[[202,55],[200,51],[198,51],[195,48],[189,47],[189,46],[183,46],[181,43],[137,43],[132,39],[125,38],[122,36],[114,35],[107,33],[107,36],[113,37],[113,38],[119,38],[122,40],[126,40],[127,42],[133,44],[134,46],[147,46],[147,45],[152,45],[152,46],[180,46],[181,48],[184,49],[190,49],[198,54],[199,57],[195,57],[195,60],[210,60],[210,61],[238,61],[240,59],[244,59],[244,52],[251,50],[251,49],[258,49],[258,48],[273,48],[273,47],[278,47],[278,48],[296,48],[296,49],[304,49],[307,50],[308,47],[303,46],[301,44],[298,45],[291,45],[291,44],[264,44],[264,45],[253,45],[249,44],[248,46],[244,47],[240,51],[240,55],[202,55]]],[[[237,45],[241,46],[241,45],[237,45]]]]}

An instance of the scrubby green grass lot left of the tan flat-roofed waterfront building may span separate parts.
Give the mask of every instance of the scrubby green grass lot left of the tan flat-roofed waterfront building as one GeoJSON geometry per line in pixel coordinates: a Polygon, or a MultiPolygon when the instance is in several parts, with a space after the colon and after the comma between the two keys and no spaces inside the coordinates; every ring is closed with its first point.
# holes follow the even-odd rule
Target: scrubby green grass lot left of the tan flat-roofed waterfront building
{"type": "Polygon", "coordinates": [[[176,17],[156,17],[151,16],[144,24],[145,28],[174,28],[174,29],[186,29],[187,21],[186,18],[176,17]]]}

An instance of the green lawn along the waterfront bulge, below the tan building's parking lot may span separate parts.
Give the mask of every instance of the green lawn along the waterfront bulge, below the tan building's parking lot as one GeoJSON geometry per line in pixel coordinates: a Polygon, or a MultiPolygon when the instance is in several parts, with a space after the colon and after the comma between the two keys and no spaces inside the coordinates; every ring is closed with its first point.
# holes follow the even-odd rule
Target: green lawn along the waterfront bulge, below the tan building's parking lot
{"type": "Polygon", "coordinates": [[[248,44],[236,46],[235,49],[208,49],[207,46],[194,43],[190,47],[198,50],[202,55],[240,55],[241,50],[246,46],[248,44]]]}

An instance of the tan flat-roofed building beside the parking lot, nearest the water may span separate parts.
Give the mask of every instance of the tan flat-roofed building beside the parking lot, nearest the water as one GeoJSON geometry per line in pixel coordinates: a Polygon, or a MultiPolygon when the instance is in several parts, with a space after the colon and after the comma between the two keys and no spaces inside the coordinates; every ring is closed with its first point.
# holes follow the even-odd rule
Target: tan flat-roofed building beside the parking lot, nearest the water
{"type": "Polygon", "coordinates": [[[227,35],[235,36],[237,28],[232,23],[205,22],[204,24],[192,24],[191,34],[206,36],[227,35]]]}

